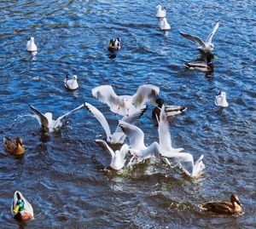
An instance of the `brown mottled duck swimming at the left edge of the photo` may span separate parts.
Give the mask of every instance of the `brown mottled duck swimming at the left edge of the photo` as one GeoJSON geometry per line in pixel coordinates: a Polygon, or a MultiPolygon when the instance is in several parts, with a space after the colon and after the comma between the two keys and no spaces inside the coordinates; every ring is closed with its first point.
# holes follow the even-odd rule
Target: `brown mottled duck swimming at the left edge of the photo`
{"type": "Polygon", "coordinates": [[[25,152],[25,148],[20,137],[17,137],[15,140],[10,139],[9,137],[4,137],[3,147],[5,151],[15,155],[20,155],[25,152]]]}

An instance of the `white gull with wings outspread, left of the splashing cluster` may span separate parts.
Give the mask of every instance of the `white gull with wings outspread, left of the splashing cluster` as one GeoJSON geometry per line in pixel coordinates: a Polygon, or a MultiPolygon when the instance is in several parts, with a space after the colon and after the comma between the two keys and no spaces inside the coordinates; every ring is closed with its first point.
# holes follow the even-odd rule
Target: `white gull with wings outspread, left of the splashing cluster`
{"type": "Polygon", "coordinates": [[[84,107],[84,104],[81,106],[78,106],[77,108],[73,109],[71,112],[67,112],[66,114],[64,114],[61,117],[58,117],[56,120],[54,120],[52,118],[52,113],[46,112],[43,114],[42,112],[39,112],[38,109],[36,109],[34,106],[32,106],[32,105],[30,106],[30,108],[32,109],[32,112],[34,112],[36,114],[33,117],[36,117],[38,119],[38,123],[40,124],[42,129],[49,131],[49,132],[53,132],[53,131],[61,128],[61,125],[62,125],[61,120],[64,117],[67,117],[72,112],[79,111],[83,107],[84,107]]]}

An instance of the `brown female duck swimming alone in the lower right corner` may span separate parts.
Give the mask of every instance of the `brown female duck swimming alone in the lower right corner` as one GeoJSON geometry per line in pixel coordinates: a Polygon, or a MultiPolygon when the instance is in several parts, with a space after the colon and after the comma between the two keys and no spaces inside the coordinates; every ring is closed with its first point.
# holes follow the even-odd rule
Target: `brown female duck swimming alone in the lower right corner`
{"type": "Polygon", "coordinates": [[[208,202],[201,205],[202,209],[219,215],[234,215],[241,212],[241,203],[237,195],[231,195],[230,202],[208,202]]]}

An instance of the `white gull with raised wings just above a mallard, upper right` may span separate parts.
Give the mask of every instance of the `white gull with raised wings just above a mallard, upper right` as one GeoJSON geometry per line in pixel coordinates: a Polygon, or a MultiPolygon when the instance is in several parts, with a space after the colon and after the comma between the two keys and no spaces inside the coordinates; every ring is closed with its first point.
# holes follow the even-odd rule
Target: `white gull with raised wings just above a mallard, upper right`
{"type": "Polygon", "coordinates": [[[201,37],[196,37],[194,35],[189,35],[187,33],[184,32],[179,32],[183,37],[188,38],[189,40],[191,40],[194,43],[199,44],[200,46],[197,49],[201,49],[204,52],[211,52],[214,48],[214,45],[212,43],[212,37],[214,35],[214,33],[218,30],[218,26],[219,26],[219,21],[216,23],[216,25],[213,27],[212,31],[209,33],[207,40],[204,42],[201,37]]]}

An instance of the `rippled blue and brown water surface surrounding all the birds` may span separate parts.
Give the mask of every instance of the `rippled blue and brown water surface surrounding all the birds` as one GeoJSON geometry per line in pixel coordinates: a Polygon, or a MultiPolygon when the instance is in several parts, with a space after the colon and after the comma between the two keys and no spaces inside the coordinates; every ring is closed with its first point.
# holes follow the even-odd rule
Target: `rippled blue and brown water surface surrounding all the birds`
{"type": "MultiPolygon", "coordinates": [[[[32,203],[35,219],[20,228],[255,228],[255,48],[256,2],[166,1],[172,30],[157,27],[154,1],[1,1],[0,139],[20,135],[24,157],[0,149],[0,227],[19,228],[9,208],[19,190],[32,203]],[[220,20],[213,43],[214,72],[185,70],[198,52],[178,34],[207,37],[220,20]],[[26,52],[35,37],[38,54],[26,52]],[[108,41],[121,37],[122,49],[108,58],[108,41]],[[67,91],[67,74],[79,89],[67,91]],[[133,94],[143,83],[160,87],[170,105],[187,106],[171,123],[174,146],[195,158],[205,155],[205,176],[190,180],[178,169],[147,162],[106,172],[110,157],[96,146],[102,127],[86,110],[73,113],[58,133],[42,135],[29,105],[54,117],[84,101],[97,106],[115,128],[117,117],[90,90],[111,84],[117,94],[133,94]],[[215,94],[230,106],[218,110],[215,94]],[[216,218],[199,203],[237,193],[244,214],[216,218]]],[[[151,109],[137,125],[146,142],[158,140],[151,109]]]]}

